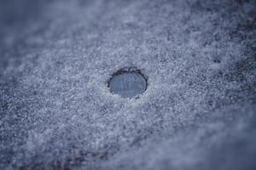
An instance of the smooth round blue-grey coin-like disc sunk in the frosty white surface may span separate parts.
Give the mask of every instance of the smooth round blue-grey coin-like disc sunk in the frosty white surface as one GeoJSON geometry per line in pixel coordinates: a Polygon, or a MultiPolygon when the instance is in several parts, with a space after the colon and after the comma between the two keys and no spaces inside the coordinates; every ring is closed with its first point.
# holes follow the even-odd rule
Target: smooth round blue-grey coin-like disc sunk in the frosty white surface
{"type": "Polygon", "coordinates": [[[122,71],[113,75],[108,86],[112,94],[132,98],[143,94],[147,88],[147,81],[139,71],[122,71]]]}

